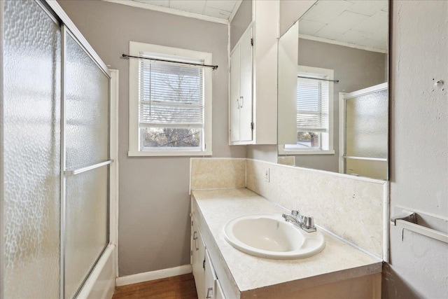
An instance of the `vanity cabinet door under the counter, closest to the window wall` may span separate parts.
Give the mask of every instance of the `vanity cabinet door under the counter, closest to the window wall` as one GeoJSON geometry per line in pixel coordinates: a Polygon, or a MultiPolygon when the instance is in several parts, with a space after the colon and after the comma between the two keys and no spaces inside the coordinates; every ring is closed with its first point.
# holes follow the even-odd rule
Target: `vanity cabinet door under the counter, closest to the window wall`
{"type": "Polygon", "coordinates": [[[192,229],[192,256],[191,263],[193,267],[193,276],[195,277],[196,291],[198,298],[205,298],[204,294],[204,259],[205,259],[205,243],[202,239],[201,231],[199,230],[198,222],[193,215],[193,229],[192,229]]]}

